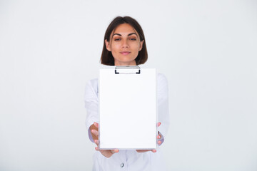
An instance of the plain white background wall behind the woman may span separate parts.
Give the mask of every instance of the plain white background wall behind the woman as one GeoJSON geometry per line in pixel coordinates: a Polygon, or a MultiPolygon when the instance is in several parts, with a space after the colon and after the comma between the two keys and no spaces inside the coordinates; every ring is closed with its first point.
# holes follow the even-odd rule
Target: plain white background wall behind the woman
{"type": "Polygon", "coordinates": [[[132,16],[169,83],[168,170],[257,170],[257,1],[0,1],[0,170],[91,170],[84,86],[132,16]]]}

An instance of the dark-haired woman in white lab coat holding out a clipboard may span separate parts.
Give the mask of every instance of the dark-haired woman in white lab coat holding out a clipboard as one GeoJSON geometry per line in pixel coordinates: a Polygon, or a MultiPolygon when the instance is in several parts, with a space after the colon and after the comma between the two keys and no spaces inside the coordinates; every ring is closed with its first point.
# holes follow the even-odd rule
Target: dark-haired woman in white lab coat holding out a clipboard
{"type": "MultiPolygon", "coordinates": [[[[141,26],[129,16],[116,17],[109,24],[104,36],[101,63],[109,66],[137,66],[147,61],[146,41],[141,26]]],[[[168,130],[168,83],[158,74],[158,145],[168,130]]],[[[165,170],[159,147],[156,150],[99,150],[98,81],[86,85],[86,128],[89,138],[96,143],[93,170],[165,170]]]]}

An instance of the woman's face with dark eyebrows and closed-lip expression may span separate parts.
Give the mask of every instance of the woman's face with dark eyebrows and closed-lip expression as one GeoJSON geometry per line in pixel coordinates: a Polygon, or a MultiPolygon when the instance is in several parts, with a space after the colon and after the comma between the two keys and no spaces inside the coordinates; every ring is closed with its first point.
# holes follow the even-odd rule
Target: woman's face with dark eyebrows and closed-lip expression
{"type": "Polygon", "coordinates": [[[136,57],[141,51],[143,41],[138,33],[129,24],[120,24],[110,36],[110,41],[105,40],[106,48],[114,56],[115,66],[136,66],[136,57]]]}

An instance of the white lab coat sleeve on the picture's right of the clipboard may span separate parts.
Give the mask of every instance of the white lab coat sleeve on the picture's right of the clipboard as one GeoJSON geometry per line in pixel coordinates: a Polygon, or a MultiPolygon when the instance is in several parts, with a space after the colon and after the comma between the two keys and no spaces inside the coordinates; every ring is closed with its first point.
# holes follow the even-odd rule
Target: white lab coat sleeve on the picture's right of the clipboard
{"type": "Polygon", "coordinates": [[[161,133],[162,138],[164,138],[168,133],[170,123],[168,113],[168,81],[163,74],[158,73],[157,83],[158,122],[161,122],[158,131],[161,133]]]}

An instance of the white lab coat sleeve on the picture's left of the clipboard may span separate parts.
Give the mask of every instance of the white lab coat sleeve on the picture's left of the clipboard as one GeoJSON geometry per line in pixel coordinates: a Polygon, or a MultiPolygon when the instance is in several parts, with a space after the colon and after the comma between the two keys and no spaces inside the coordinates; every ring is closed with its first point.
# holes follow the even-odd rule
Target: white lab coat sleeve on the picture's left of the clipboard
{"type": "Polygon", "coordinates": [[[86,84],[85,94],[84,94],[84,102],[86,108],[86,129],[89,133],[89,139],[91,142],[94,142],[90,126],[94,124],[94,122],[99,123],[99,98],[97,93],[97,79],[91,80],[86,84]]]}

